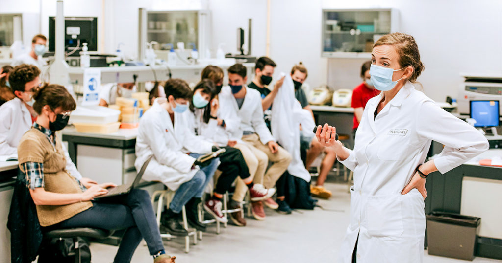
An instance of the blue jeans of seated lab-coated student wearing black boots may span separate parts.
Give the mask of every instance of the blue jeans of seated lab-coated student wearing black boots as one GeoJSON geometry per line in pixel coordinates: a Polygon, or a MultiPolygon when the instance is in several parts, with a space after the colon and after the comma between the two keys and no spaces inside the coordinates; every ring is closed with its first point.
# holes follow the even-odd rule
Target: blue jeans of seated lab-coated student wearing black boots
{"type": "MultiPolygon", "coordinates": [[[[190,156],[194,158],[201,155],[202,154],[190,153],[190,156]]],[[[192,197],[201,198],[204,193],[204,188],[206,188],[206,185],[213,177],[216,168],[218,168],[218,161],[218,158],[212,159],[211,163],[198,170],[190,181],[181,184],[180,188],[176,190],[173,200],[169,204],[169,209],[175,213],[179,213],[181,212],[183,205],[190,201],[192,197]]]]}

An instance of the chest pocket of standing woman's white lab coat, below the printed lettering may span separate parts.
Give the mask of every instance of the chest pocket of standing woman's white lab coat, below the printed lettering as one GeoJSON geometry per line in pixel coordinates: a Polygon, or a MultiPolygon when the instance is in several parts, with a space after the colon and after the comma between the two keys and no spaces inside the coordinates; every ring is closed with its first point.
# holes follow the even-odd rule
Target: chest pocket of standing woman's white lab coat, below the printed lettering
{"type": "Polygon", "coordinates": [[[400,161],[407,157],[409,148],[410,134],[404,136],[388,134],[380,140],[380,147],[376,154],[380,160],[400,161]]]}

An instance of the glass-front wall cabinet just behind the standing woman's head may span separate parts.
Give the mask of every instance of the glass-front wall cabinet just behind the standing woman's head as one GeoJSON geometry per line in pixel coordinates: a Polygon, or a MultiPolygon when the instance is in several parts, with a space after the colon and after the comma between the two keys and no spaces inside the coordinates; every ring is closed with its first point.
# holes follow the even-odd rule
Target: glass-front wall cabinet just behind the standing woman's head
{"type": "Polygon", "coordinates": [[[324,9],[322,57],[369,58],[373,43],[398,31],[395,9],[324,9]]]}

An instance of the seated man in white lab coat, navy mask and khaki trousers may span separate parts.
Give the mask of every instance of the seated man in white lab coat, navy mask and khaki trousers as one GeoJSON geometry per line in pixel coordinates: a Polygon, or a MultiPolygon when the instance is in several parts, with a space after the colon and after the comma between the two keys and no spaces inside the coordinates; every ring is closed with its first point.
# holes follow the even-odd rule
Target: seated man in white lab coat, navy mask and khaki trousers
{"type": "MultiPolygon", "coordinates": [[[[222,119],[233,138],[247,144],[248,148],[265,165],[259,165],[255,182],[272,188],[291,162],[291,154],[275,141],[263,119],[262,98],[254,89],[247,88],[246,68],[235,64],[228,69],[230,87],[223,87],[219,95],[222,119]],[[273,164],[265,173],[268,161],[273,164]]],[[[268,198],[267,206],[277,209],[278,204],[268,198]],[[275,207],[274,207],[275,206],[275,207]]],[[[255,218],[265,219],[262,202],[252,202],[255,218]]]]}

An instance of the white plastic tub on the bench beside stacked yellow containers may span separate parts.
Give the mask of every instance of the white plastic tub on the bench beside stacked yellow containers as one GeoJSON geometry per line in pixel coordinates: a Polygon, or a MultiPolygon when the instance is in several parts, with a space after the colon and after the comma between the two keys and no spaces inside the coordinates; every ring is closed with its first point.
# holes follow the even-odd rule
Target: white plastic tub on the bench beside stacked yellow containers
{"type": "Polygon", "coordinates": [[[120,111],[103,106],[77,106],[70,115],[70,123],[108,124],[116,122],[120,111]]]}

